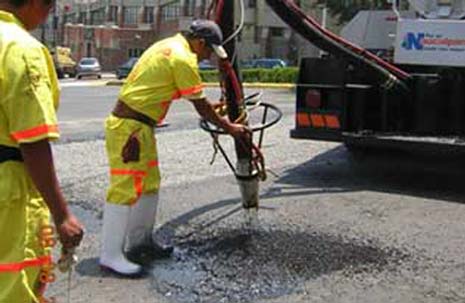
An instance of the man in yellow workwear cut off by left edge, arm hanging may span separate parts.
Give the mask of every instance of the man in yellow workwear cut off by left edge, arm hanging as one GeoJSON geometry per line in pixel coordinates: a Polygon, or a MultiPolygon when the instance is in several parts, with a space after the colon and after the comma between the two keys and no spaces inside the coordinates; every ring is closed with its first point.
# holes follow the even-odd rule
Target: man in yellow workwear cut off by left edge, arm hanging
{"type": "Polygon", "coordinates": [[[0,0],[0,302],[43,301],[53,280],[55,240],[82,239],[55,174],[49,140],[57,139],[59,89],[52,58],[28,31],[44,22],[49,0],[0,0]]]}

